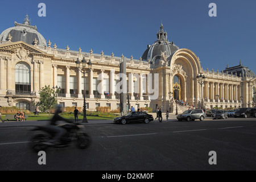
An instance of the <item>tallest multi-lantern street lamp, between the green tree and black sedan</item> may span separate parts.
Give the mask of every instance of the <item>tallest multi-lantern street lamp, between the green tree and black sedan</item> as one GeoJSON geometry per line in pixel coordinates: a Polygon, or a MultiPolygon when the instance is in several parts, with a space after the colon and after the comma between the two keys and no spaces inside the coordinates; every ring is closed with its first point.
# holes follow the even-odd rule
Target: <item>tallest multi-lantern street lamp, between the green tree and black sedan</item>
{"type": "Polygon", "coordinates": [[[82,118],[82,123],[88,123],[87,118],[86,118],[86,104],[85,104],[85,73],[88,73],[87,71],[85,71],[86,64],[88,64],[88,68],[90,71],[90,69],[92,69],[92,62],[89,60],[88,63],[86,63],[85,58],[83,58],[82,61],[80,62],[79,58],[77,58],[76,67],[82,74],[84,74],[84,109],[83,109],[84,117],[82,118]],[[81,63],[82,63],[82,69],[80,69],[81,63]]]}

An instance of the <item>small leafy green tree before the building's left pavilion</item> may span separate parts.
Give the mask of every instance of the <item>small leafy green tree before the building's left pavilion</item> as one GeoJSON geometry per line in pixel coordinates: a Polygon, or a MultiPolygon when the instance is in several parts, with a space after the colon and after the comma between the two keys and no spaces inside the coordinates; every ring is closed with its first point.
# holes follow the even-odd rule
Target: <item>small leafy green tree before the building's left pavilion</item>
{"type": "MultiPolygon", "coordinates": [[[[57,104],[57,92],[52,89],[49,85],[44,86],[40,92],[40,101],[37,102],[37,105],[40,107],[40,110],[43,110],[44,113],[50,110],[53,106],[57,104]]],[[[49,113],[50,117],[50,113],[49,113]]]]}

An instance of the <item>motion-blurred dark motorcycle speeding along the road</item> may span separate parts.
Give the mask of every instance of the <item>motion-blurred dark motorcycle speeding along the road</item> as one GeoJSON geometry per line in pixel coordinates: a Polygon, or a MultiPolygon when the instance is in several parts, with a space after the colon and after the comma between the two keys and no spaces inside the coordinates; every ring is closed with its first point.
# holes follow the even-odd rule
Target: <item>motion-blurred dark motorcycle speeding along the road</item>
{"type": "Polygon", "coordinates": [[[52,126],[36,126],[31,129],[31,131],[39,132],[31,138],[30,146],[34,151],[45,151],[50,146],[67,147],[72,143],[72,140],[75,140],[76,146],[81,149],[88,148],[92,143],[90,135],[83,131],[84,126],[80,123],[60,124],[54,127],[63,127],[67,130],[67,133],[60,138],[59,144],[53,145],[47,144],[47,142],[55,135],[55,132],[51,130],[52,126]]]}

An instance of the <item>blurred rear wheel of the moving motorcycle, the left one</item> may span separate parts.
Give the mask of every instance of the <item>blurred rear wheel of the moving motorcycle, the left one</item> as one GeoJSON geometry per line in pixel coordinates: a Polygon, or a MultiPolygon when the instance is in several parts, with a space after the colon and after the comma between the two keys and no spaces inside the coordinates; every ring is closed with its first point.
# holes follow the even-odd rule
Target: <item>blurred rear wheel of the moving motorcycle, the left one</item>
{"type": "Polygon", "coordinates": [[[30,146],[32,150],[39,152],[44,151],[48,147],[46,144],[43,144],[43,142],[47,141],[47,136],[44,134],[37,134],[34,137],[31,138],[30,146]]]}

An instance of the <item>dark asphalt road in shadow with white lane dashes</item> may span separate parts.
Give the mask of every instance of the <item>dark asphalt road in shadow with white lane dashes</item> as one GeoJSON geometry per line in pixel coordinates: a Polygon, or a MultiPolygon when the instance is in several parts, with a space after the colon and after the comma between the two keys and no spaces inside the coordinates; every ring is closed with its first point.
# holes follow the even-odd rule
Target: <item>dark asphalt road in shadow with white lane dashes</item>
{"type": "Polygon", "coordinates": [[[255,170],[256,119],[86,124],[92,146],[30,150],[28,126],[1,127],[0,170],[255,170]],[[209,164],[210,151],[216,164],[209,164]]]}

